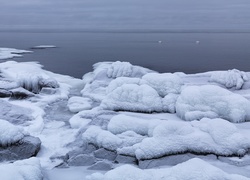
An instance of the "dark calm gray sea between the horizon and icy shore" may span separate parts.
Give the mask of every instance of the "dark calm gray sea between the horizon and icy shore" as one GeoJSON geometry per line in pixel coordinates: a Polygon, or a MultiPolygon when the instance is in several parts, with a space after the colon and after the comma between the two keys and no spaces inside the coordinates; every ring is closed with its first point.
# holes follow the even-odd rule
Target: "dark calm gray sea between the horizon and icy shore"
{"type": "Polygon", "coordinates": [[[58,48],[33,50],[14,60],[39,61],[47,70],[74,77],[96,62],[117,60],[159,72],[250,71],[250,33],[0,32],[0,47],[37,45],[58,48]]]}

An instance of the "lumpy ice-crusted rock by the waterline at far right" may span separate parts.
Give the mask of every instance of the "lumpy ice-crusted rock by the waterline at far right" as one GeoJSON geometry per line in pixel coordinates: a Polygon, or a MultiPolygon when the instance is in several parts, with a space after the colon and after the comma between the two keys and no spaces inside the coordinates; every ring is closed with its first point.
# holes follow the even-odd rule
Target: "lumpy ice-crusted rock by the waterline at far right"
{"type": "Polygon", "coordinates": [[[224,85],[227,88],[241,89],[244,82],[248,80],[248,76],[245,72],[237,69],[228,71],[213,72],[210,77],[210,82],[216,82],[224,85]]]}

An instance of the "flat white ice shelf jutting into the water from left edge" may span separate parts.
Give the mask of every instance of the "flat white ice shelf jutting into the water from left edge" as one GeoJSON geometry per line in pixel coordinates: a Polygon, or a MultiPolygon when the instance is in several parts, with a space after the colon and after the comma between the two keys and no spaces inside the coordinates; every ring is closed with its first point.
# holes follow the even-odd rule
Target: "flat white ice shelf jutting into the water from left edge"
{"type": "Polygon", "coordinates": [[[23,53],[31,53],[32,51],[14,49],[14,48],[0,48],[0,60],[11,59],[14,57],[21,57],[23,53]]]}

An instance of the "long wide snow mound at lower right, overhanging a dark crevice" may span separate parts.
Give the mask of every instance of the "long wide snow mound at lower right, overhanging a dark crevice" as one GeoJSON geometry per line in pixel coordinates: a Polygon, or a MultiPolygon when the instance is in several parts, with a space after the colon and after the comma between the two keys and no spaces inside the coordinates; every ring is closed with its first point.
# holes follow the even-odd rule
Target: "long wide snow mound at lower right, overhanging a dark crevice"
{"type": "Polygon", "coordinates": [[[234,124],[223,119],[204,118],[201,121],[166,121],[132,147],[118,149],[119,154],[134,155],[139,160],[193,152],[221,156],[243,156],[249,148],[245,137],[234,124]],[[221,129],[223,127],[223,129],[221,129]]]}

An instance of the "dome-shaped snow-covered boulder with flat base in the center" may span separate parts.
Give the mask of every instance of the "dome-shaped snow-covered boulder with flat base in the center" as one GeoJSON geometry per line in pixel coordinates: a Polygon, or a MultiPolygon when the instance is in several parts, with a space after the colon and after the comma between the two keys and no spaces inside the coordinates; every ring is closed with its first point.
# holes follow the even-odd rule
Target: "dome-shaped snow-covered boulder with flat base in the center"
{"type": "Polygon", "coordinates": [[[109,93],[101,107],[108,110],[161,112],[162,99],[148,85],[124,84],[109,93]]]}

